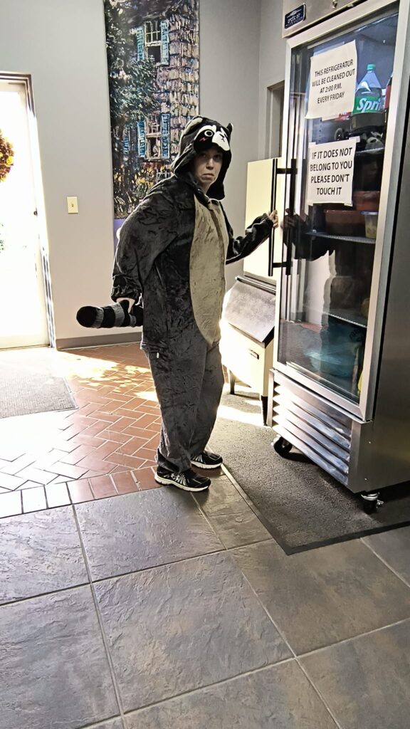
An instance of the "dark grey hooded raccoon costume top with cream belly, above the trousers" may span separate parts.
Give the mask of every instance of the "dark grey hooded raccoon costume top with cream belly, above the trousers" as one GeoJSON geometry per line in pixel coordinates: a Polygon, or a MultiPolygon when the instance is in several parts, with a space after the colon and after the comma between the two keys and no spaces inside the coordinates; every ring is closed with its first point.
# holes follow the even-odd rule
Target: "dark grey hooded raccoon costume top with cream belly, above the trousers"
{"type": "Polygon", "coordinates": [[[225,262],[252,253],[271,233],[273,223],[263,215],[243,237],[234,238],[219,202],[231,163],[231,130],[206,117],[191,120],[182,133],[174,174],[152,187],[120,229],[112,299],[143,303],[143,348],[180,345],[190,327],[209,345],[217,341],[225,262]],[[205,194],[190,167],[213,144],[222,150],[223,164],[205,194]]]}

